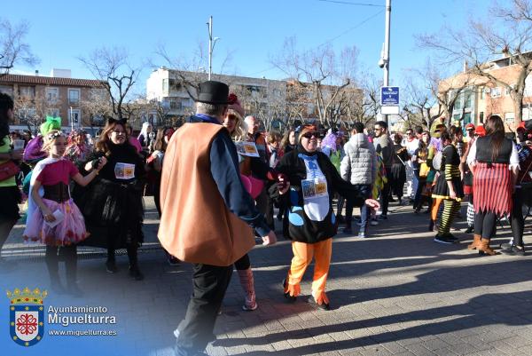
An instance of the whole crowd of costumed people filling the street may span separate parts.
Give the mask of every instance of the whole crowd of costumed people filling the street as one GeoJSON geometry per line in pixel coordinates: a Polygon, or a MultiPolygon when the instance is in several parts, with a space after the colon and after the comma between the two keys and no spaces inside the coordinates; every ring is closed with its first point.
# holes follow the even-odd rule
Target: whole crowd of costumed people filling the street
{"type": "Polygon", "coordinates": [[[501,251],[525,254],[522,205],[532,186],[525,123],[515,142],[497,115],[465,128],[438,118],[404,132],[391,132],[383,121],[265,132],[224,83],[201,83],[196,101],[196,114],[181,128],[155,131],[145,123],[137,138],[126,121],[112,117],[94,139],[79,130],[66,135],[57,118],[47,118],[31,137],[9,131],[13,100],[0,94],[0,249],[27,195],[23,239],[46,245],[52,290],[82,296],[78,245],[106,249],[108,273],[118,273],[115,250],[127,249],[129,275],[141,281],[143,195],[153,191],[168,263],[192,264],[192,298],[175,332],[178,355],[202,354],[214,339],[233,266],[242,309],[259,307],[248,252],[254,235],[264,245],[276,243],[276,218],[293,250],[282,293],[297,300],[314,260],[308,302],[322,310],[331,308],[325,287],[339,226],[352,234],[356,222],[356,236],[371,238],[371,226],[386,223],[395,200],[402,211],[426,213],[434,241],[445,244],[458,242],[450,231],[466,200],[465,233],[473,233],[467,249],[495,255],[490,240],[497,221],[508,219],[513,238],[501,251]],[[66,264],[66,285],[59,261],[66,264]]]}

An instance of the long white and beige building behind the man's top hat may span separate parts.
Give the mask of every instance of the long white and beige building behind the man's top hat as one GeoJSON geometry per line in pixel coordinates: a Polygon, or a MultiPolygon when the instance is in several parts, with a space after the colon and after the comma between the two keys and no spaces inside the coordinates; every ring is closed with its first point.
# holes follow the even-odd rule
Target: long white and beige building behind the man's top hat
{"type": "MultiPolygon", "coordinates": [[[[279,81],[238,75],[211,75],[211,79],[227,83],[230,92],[239,97],[246,115],[261,119],[268,130],[271,127],[280,129],[283,123],[305,122],[317,118],[312,85],[298,85],[293,80],[279,81]]],[[[160,67],[152,72],[146,82],[146,99],[160,104],[162,117],[158,118],[159,121],[165,116],[183,118],[193,114],[197,88],[204,81],[207,81],[207,74],[203,72],[160,67]]],[[[324,97],[334,88],[324,85],[324,97]]],[[[343,92],[344,96],[356,97],[356,100],[362,102],[362,90],[346,88],[343,92]]],[[[340,112],[332,108],[330,107],[331,115],[340,112]]]]}

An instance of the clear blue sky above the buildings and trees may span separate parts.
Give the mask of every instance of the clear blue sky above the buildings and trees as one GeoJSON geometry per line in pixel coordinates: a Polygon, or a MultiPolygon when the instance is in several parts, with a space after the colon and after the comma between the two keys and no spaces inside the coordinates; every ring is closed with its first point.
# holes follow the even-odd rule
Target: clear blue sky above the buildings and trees
{"type": "MultiPolygon", "coordinates": [[[[406,71],[422,67],[430,56],[417,47],[416,35],[438,33],[443,25],[464,28],[468,18],[484,17],[483,8],[490,3],[392,0],[390,82],[401,85],[406,71]]],[[[380,78],[384,4],[385,0],[27,0],[4,2],[2,7],[12,23],[27,21],[26,42],[40,59],[35,67],[16,67],[17,71],[38,69],[49,75],[51,68],[67,68],[73,77],[92,78],[79,57],[98,47],[116,46],[129,52],[133,67],[144,67],[137,85],[142,92],[153,66],[168,67],[156,54],[160,45],[185,61],[200,44],[207,51],[206,23],[211,15],[214,36],[220,37],[214,73],[221,73],[226,61],[223,74],[283,79],[286,75],[272,66],[271,59],[287,37],[295,36],[300,50],[328,43],[340,52],[355,45],[360,73],[380,78]]]]}

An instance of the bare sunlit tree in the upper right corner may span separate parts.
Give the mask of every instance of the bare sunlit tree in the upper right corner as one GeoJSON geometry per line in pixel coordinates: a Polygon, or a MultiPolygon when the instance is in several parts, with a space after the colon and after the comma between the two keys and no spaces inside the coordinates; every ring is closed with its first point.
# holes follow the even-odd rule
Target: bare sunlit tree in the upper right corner
{"type": "Polygon", "coordinates": [[[463,30],[445,28],[435,35],[419,36],[419,44],[441,54],[442,63],[469,64],[473,75],[483,77],[492,85],[510,93],[515,124],[522,117],[525,81],[532,71],[532,5],[529,0],[511,0],[509,4],[494,3],[489,9],[490,20],[470,20],[463,30]],[[489,60],[500,53],[515,75],[497,75],[489,60]]]}

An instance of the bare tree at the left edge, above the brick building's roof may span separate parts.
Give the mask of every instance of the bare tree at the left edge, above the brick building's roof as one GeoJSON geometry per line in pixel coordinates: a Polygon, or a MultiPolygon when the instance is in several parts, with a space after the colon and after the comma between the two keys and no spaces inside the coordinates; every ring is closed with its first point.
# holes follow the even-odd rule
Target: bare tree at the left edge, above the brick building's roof
{"type": "Polygon", "coordinates": [[[13,25],[9,20],[0,20],[0,76],[9,74],[17,64],[33,66],[38,62],[24,41],[28,30],[27,22],[13,25]]]}

